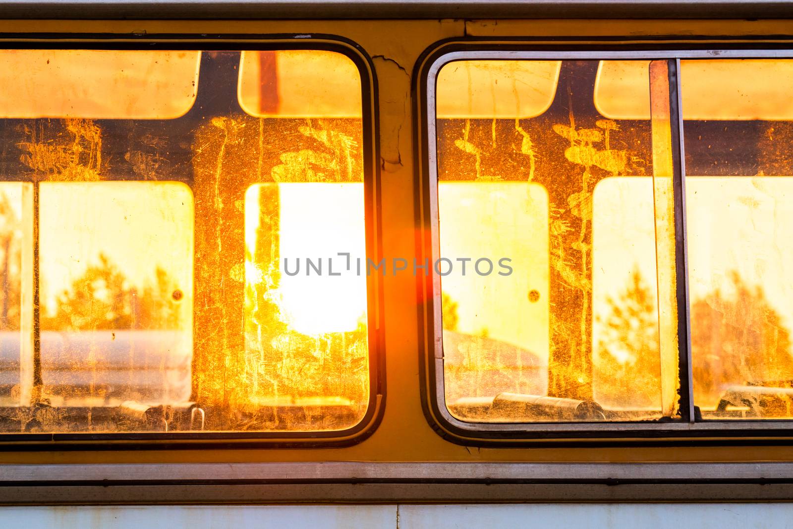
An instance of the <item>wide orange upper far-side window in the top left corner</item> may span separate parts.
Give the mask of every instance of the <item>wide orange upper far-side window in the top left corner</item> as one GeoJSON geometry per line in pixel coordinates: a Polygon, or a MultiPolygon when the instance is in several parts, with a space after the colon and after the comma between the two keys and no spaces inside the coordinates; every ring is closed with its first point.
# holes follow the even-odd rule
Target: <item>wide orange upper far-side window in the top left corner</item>
{"type": "Polygon", "coordinates": [[[167,119],[196,98],[201,52],[0,51],[0,117],[167,119]]]}

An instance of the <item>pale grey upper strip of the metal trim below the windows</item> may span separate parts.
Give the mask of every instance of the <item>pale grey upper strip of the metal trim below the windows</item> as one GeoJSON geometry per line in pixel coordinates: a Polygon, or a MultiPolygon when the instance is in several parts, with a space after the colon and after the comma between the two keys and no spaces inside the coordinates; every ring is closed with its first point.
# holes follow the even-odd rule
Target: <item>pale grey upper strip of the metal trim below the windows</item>
{"type": "Polygon", "coordinates": [[[0,485],[157,481],[591,481],[790,480],[793,462],[164,462],[10,463],[0,485]]]}

